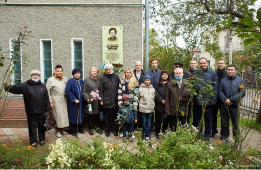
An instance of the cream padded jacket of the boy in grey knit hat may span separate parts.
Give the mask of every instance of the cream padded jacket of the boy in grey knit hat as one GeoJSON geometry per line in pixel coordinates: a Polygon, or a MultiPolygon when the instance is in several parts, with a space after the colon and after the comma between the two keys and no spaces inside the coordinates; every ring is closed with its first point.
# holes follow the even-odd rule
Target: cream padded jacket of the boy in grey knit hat
{"type": "Polygon", "coordinates": [[[139,111],[145,113],[153,112],[155,107],[154,100],[156,96],[155,89],[151,84],[145,85],[144,83],[142,83],[140,85],[139,91],[139,111]]]}

